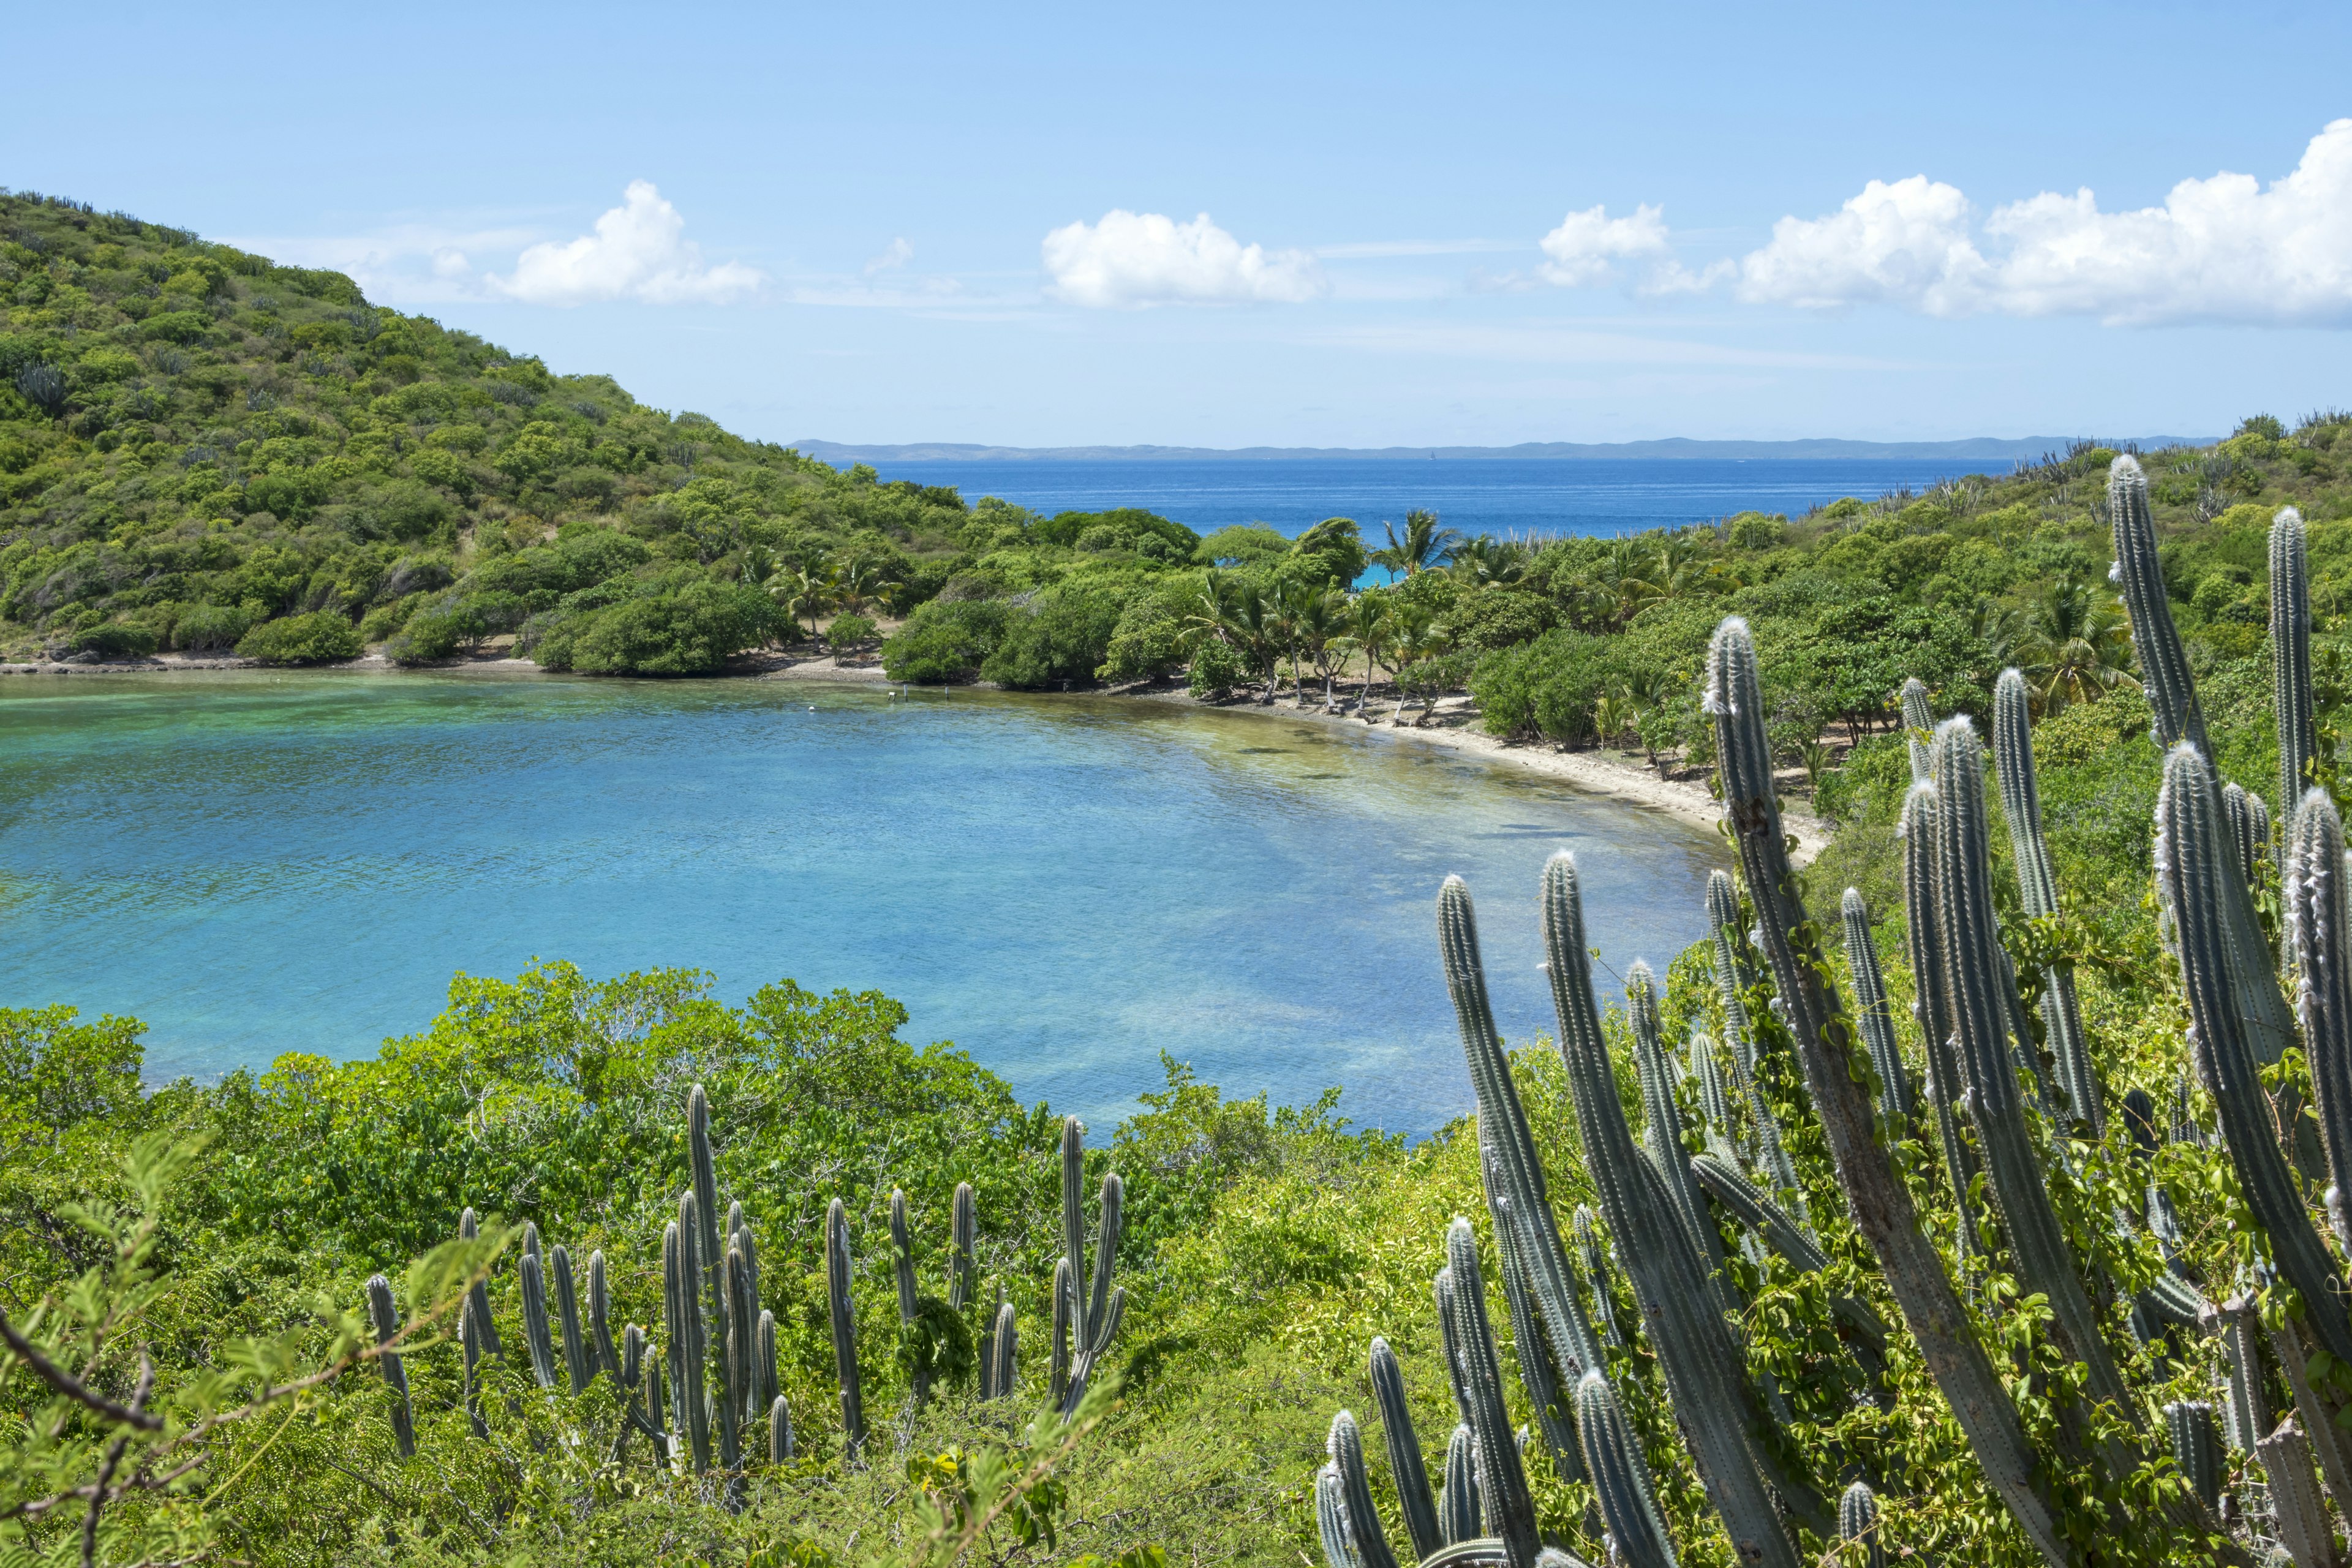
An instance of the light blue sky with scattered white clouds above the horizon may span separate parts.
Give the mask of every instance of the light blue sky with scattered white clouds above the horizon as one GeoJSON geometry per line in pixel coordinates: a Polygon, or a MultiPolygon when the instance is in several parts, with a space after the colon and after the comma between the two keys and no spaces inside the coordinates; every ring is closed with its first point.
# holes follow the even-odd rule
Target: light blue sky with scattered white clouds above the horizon
{"type": "Polygon", "coordinates": [[[764,440],[2352,404],[2352,7],[26,7],[0,183],[764,440]]]}

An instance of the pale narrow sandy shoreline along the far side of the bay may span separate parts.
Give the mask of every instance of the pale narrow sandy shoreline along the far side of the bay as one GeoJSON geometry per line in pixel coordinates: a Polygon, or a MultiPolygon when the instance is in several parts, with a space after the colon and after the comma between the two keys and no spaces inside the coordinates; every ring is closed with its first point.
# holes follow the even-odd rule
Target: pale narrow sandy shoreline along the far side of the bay
{"type": "MultiPolygon", "coordinates": [[[[7,675],[183,675],[183,672],[228,672],[228,670],[275,670],[278,665],[263,665],[254,658],[238,658],[233,654],[216,658],[141,658],[141,661],[92,661],[92,663],[0,663],[0,677],[7,675]]],[[[365,654],[360,658],[348,658],[332,665],[313,665],[315,670],[353,670],[365,675],[409,675],[405,665],[395,665],[383,658],[383,654],[365,654]]],[[[539,672],[539,665],[529,658],[468,658],[452,661],[445,665],[421,665],[414,672],[440,672],[440,675],[522,675],[539,672]]],[[[818,658],[790,658],[783,654],[767,654],[743,661],[741,668],[727,670],[715,677],[703,679],[800,679],[800,682],[828,682],[828,684],[851,684],[851,686],[889,686],[891,682],[882,665],[844,665],[830,654],[818,658]]],[[[990,686],[993,691],[993,686],[990,686]]],[[[1061,696],[1054,691],[1035,691],[1025,696],[1061,696]]],[[[1073,693],[1080,696],[1080,693],[1073,693]]],[[[1510,743],[1489,736],[1472,726],[1475,708],[1468,696],[1439,698],[1437,712],[1428,724],[1388,724],[1385,719],[1364,722],[1352,715],[1327,712],[1322,703],[1291,705],[1291,703],[1258,703],[1247,698],[1235,698],[1225,703],[1202,703],[1190,691],[1176,684],[1155,686],[1115,686],[1115,689],[1089,689],[1082,696],[1115,696],[1138,703],[1171,703],[1183,708],[1204,708],[1211,712],[1240,712],[1263,719],[1284,719],[1291,724],[1308,722],[1322,724],[1324,729],[1345,729],[1350,733],[1385,736],[1392,741],[1414,741],[1421,745],[1435,745],[1463,757],[1477,757],[1491,766],[1510,766],[1524,773],[1536,773],[1541,778],[1555,778],[1571,785],[1585,795],[1599,795],[1604,799],[1625,802],[1649,811],[1661,811],[1665,816],[1679,818],[1693,827],[1705,827],[1715,832],[1722,820],[1722,806],[1708,792],[1705,783],[1691,778],[1661,778],[1656,771],[1644,766],[1630,755],[1590,750],[1590,752],[1566,752],[1552,745],[1529,745],[1510,743]]],[[[1797,851],[1790,856],[1795,865],[1806,865],[1818,856],[1830,842],[1830,825],[1809,811],[1797,811],[1792,804],[1780,806],[1783,827],[1795,835],[1797,851]]]]}

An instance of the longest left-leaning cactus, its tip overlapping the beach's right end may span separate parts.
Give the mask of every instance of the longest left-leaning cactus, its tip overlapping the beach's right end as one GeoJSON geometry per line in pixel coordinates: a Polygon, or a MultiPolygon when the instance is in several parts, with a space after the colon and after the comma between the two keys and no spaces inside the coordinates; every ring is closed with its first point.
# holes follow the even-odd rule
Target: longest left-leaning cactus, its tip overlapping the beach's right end
{"type": "Polygon", "coordinates": [[[1877,1255],[1903,1307],[1903,1324],[1969,1436],[1985,1481],[2053,1568],[2079,1568],[2082,1549],[2058,1533],[2056,1507],[2025,1441],[2018,1408],[1994,1375],[1992,1359],[1976,1338],[1936,1246],[1919,1227],[1910,1187],[1896,1173],[1886,1145],[1877,1140],[1877,1107],[1853,1063],[1858,1041],[1825,978],[1820,940],[1788,865],[1780,802],[1771,785],[1771,748],[1764,736],[1764,691],[1745,621],[1724,621],[1715,632],[1715,644],[1708,649],[1705,705],[1715,717],[1724,816],[1738,844],[1748,891],[1757,903],[1764,952],[1788,1006],[1790,1034],[1813,1095],[1813,1112],[1830,1143],[1846,1208],[1877,1255]]]}

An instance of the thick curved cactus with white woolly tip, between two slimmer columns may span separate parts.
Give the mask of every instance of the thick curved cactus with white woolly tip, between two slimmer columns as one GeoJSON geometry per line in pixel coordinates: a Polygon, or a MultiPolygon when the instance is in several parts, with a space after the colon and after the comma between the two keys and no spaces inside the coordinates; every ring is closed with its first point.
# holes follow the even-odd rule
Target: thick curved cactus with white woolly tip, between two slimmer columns
{"type": "MultiPolygon", "coordinates": [[[[2018,1077],[2011,1070],[2016,992],[2006,985],[2009,966],[1992,914],[1983,748],[1966,717],[1945,719],[1936,731],[1936,924],[1945,992],[1966,1058],[1985,1175],[2018,1262],[2018,1279],[2027,1291],[2049,1295],[2051,1331],[2089,1371],[2091,1399],[2133,1410],[2114,1356],[2100,1338],[2098,1309],[2074,1272],[2065,1227],[2051,1208],[2049,1178],[2034,1152],[2018,1077]]],[[[2107,1458],[2129,1472],[2122,1453],[2107,1458]]]]}

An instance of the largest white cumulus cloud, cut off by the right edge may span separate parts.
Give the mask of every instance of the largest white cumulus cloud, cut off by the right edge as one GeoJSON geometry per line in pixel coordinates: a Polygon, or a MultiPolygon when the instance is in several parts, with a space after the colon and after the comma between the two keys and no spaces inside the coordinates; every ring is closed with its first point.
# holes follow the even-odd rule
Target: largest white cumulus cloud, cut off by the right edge
{"type": "Polygon", "coordinates": [[[2096,315],[2107,322],[2352,324],[2352,120],[2267,188],[2185,179],[2161,207],[2100,212],[2044,190],[1976,223],[1924,174],[1870,181],[1820,219],[1780,219],[1738,263],[1748,301],[1889,303],[1926,315],[2096,315]]]}

